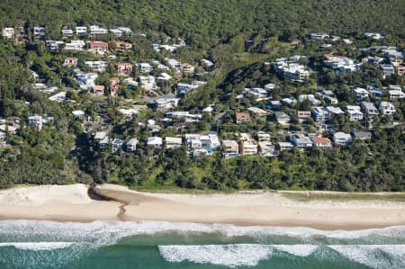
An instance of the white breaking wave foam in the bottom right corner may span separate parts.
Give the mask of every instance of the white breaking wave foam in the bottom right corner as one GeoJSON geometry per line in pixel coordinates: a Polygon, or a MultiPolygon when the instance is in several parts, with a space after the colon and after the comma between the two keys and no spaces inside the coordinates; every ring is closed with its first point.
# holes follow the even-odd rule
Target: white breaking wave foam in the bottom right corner
{"type": "Polygon", "coordinates": [[[405,245],[329,246],[347,259],[371,268],[405,268],[405,245]]]}

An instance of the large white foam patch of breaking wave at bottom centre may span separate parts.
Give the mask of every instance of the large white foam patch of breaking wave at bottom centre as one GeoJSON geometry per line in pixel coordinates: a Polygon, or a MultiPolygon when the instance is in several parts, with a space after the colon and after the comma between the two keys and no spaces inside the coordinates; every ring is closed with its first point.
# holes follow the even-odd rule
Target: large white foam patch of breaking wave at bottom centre
{"type": "Polygon", "coordinates": [[[266,245],[203,245],[203,246],[159,246],[160,255],[167,262],[189,261],[196,264],[255,266],[273,253],[266,245]]]}

